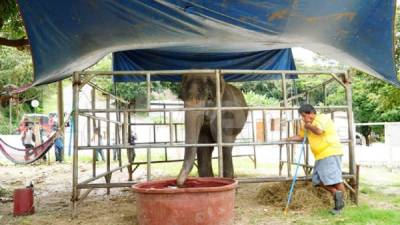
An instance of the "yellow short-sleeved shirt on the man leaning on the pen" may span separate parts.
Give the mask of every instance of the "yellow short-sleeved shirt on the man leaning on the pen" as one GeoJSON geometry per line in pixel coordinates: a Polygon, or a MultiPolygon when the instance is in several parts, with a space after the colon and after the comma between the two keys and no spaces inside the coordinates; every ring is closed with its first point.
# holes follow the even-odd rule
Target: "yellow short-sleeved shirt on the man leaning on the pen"
{"type": "MultiPolygon", "coordinates": [[[[326,114],[317,114],[312,122],[313,126],[323,130],[321,135],[307,132],[308,142],[315,160],[324,159],[332,155],[343,155],[342,145],[337,135],[335,124],[326,114]]],[[[304,137],[304,125],[301,126],[299,135],[304,137]]]]}

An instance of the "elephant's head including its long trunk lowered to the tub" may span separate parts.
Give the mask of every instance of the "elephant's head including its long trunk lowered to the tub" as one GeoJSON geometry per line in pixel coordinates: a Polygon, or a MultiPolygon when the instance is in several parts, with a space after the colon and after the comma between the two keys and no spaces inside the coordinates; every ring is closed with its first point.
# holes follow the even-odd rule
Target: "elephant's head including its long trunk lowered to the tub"
{"type": "MultiPolygon", "coordinates": [[[[202,108],[216,106],[216,77],[215,74],[188,74],[182,77],[181,98],[185,108],[202,108]]],[[[221,96],[225,82],[221,77],[221,96]]],[[[185,140],[186,144],[199,143],[200,130],[205,117],[210,111],[185,112],[185,140]]],[[[188,174],[193,168],[197,147],[186,147],[183,166],[177,178],[177,185],[183,186],[188,174]]]]}

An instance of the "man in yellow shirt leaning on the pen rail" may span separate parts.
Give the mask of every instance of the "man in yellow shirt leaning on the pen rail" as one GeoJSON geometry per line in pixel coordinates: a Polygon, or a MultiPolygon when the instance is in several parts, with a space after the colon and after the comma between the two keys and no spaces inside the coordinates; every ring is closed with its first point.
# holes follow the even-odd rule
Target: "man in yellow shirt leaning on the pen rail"
{"type": "Polygon", "coordinates": [[[310,104],[299,108],[302,126],[298,135],[289,137],[289,141],[301,141],[306,133],[311,151],[315,158],[312,182],[333,195],[335,207],[331,213],[338,214],[344,207],[344,185],[342,180],[342,146],[333,121],[328,115],[317,114],[310,104]]]}

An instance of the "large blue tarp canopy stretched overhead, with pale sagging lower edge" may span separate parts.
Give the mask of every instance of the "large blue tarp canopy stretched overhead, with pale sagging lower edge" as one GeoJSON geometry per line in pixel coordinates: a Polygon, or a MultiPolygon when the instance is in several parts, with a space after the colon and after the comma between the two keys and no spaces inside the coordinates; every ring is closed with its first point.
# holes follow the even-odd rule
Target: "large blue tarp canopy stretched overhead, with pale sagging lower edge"
{"type": "Polygon", "coordinates": [[[255,52],[303,47],[397,84],[395,0],[18,0],[34,84],[116,51],[255,52]]]}

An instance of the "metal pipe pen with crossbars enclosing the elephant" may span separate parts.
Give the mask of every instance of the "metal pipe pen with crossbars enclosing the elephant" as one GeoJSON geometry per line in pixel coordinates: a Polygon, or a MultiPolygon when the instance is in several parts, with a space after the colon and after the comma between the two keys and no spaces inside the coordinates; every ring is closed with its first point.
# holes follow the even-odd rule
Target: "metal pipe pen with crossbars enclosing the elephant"
{"type": "MultiPolygon", "coordinates": [[[[107,172],[103,173],[101,175],[97,175],[95,177],[90,178],[89,182],[84,181],[79,183],[78,182],[78,152],[79,150],[88,150],[88,149],[101,149],[101,148],[107,148],[107,150],[110,149],[121,149],[121,148],[146,148],[147,149],[147,179],[150,180],[151,178],[151,163],[157,163],[157,161],[152,162],[151,161],[151,148],[168,148],[168,147],[188,147],[188,146],[215,146],[218,147],[218,165],[219,165],[219,176],[223,175],[223,154],[222,154],[222,148],[223,146],[262,146],[262,145],[278,145],[280,146],[280,149],[282,149],[283,146],[286,146],[287,148],[287,154],[286,154],[286,159],[287,161],[282,161],[281,159],[281,154],[280,154],[280,170],[282,169],[282,165],[284,163],[288,164],[287,172],[288,175],[285,177],[281,176],[281,171],[278,177],[267,177],[267,178],[252,178],[252,179],[238,179],[239,182],[244,183],[244,182],[276,182],[276,181],[288,181],[291,180],[291,165],[293,165],[292,160],[290,159],[290,148],[289,145],[294,145],[294,144],[299,144],[298,142],[291,142],[291,141],[275,141],[275,142],[269,142],[267,143],[265,140],[265,143],[255,143],[253,140],[253,143],[223,143],[222,140],[222,111],[223,110],[242,110],[242,109],[248,109],[248,110],[262,110],[263,113],[268,110],[275,110],[275,111],[280,111],[281,113],[281,121],[283,117],[283,113],[286,114],[286,110],[297,110],[298,107],[288,106],[288,101],[295,100],[296,98],[304,96],[303,94],[298,94],[296,96],[292,96],[288,98],[287,96],[287,90],[286,90],[286,74],[298,74],[298,75],[331,75],[332,79],[325,81],[323,84],[320,86],[326,85],[332,81],[337,81],[339,82],[342,86],[344,86],[346,90],[346,102],[347,104],[344,106],[317,106],[315,107],[316,109],[326,109],[326,110],[331,110],[331,111],[337,111],[337,110],[346,110],[347,111],[347,116],[348,116],[348,123],[349,123],[349,140],[342,140],[342,143],[349,143],[349,174],[344,174],[343,178],[345,179],[351,179],[356,181],[356,169],[355,169],[355,163],[354,163],[354,132],[353,132],[353,115],[352,115],[352,106],[351,106],[351,76],[349,73],[343,73],[342,71],[337,71],[337,72],[332,72],[332,71],[312,71],[312,72],[305,72],[305,71],[289,71],[289,70],[169,70],[169,71],[100,71],[100,72],[95,72],[95,71],[84,71],[84,72],[75,72],[73,75],[73,109],[74,109],[74,155],[73,155],[73,176],[72,176],[72,183],[73,183],[73,188],[72,188],[72,200],[73,200],[73,215],[76,215],[76,206],[77,206],[77,201],[79,200],[79,190],[80,189],[92,189],[92,188],[111,188],[111,187],[124,187],[124,185],[131,185],[133,183],[110,183],[107,182],[106,184],[90,184],[89,182],[94,181],[99,179],[100,177],[105,177],[113,172],[122,169],[122,167],[118,167],[116,169],[110,169],[109,165],[107,164],[107,172]],[[150,94],[151,94],[151,76],[152,75],[176,75],[176,74],[197,74],[201,75],[204,73],[214,73],[216,76],[216,90],[217,90],[217,106],[216,107],[207,107],[207,108],[151,108],[150,106],[150,94]],[[263,75],[272,75],[272,74],[281,74],[282,76],[282,94],[283,94],[283,106],[281,107],[221,107],[221,95],[220,95],[220,83],[221,83],[221,75],[223,74],[237,74],[237,73],[242,73],[242,74],[263,74],[263,75]],[[341,81],[339,77],[336,74],[343,75],[345,74],[345,81],[341,81]],[[80,76],[86,76],[84,83],[81,83],[81,77],[80,76]],[[93,79],[94,77],[98,75],[144,75],[146,76],[146,82],[147,82],[147,107],[146,109],[110,109],[107,107],[106,109],[79,109],[79,90],[83,87],[84,84],[88,84],[92,86],[95,89],[100,89],[97,85],[95,85],[93,82],[90,80],[93,79]],[[170,141],[167,142],[166,144],[135,144],[130,145],[128,142],[128,137],[127,137],[127,126],[130,125],[130,121],[126,121],[125,118],[128,113],[135,113],[135,112],[169,112],[170,120],[172,118],[171,114],[172,112],[176,111],[208,111],[208,110],[216,110],[217,111],[217,128],[218,128],[218,141],[215,144],[176,144],[172,142],[173,137],[170,138],[170,141]],[[93,116],[85,114],[85,113],[92,113],[93,116]],[[96,113],[107,113],[107,118],[97,118],[96,113]],[[109,119],[109,113],[124,113],[124,122],[118,122],[118,121],[111,121],[109,119]],[[93,119],[97,120],[98,122],[100,121],[105,121],[107,123],[107,129],[108,129],[108,139],[109,137],[109,124],[110,123],[115,123],[116,127],[121,127],[125,128],[123,129],[122,137],[123,137],[123,144],[116,144],[113,146],[110,146],[110,141],[107,140],[108,146],[79,146],[79,140],[78,140],[78,132],[79,132],[79,127],[78,127],[78,119],[79,116],[85,116],[88,119],[93,119]]],[[[101,92],[105,92],[104,90],[101,90],[101,92]]],[[[308,95],[309,92],[306,93],[308,95]]],[[[109,95],[108,98],[113,98],[118,102],[121,103],[126,103],[126,101],[123,101],[121,98],[111,95],[109,93],[105,93],[109,95]]],[[[293,119],[293,118],[292,118],[293,119]]],[[[290,123],[289,123],[290,124],[290,123]]],[[[172,122],[169,121],[168,123],[169,126],[172,126],[172,122]]],[[[264,124],[265,125],[265,124],[264,124]]],[[[176,126],[175,126],[176,128],[176,126]]],[[[287,127],[288,132],[290,132],[290,126],[287,127]]],[[[282,138],[282,124],[280,125],[280,137],[282,138]]],[[[118,132],[118,131],[116,131],[118,132]]],[[[170,128],[170,133],[172,134],[172,128],[170,128]]],[[[177,136],[175,132],[175,137],[177,136]]],[[[109,154],[107,154],[109,155],[109,154]]],[[[171,160],[172,161],[172,160],[171,160]]],[[[173,160],[173,161],[182,161],[182,160],[173,160]]],[[[164,161],[161,161],[164,162],[164,161]]],[[[135,164],[135,163],[134,163],[135,164]]],[[[141,163],[143,164],[143,163],[141,163]]],[[[312,166],[308,165],[308,159],[306,160],[306,164],[300,164],[301,166],[305,168],[310,168],[312,166]]],[[[304,179],[303,177],[298,178],[299,180],[309,180],[310,176],[305,176],[304,179]]],[[[353,187],[354,190],[357,190],[357,187],[353,187]]]]}

